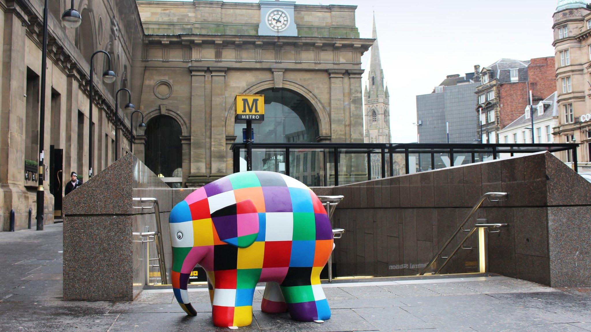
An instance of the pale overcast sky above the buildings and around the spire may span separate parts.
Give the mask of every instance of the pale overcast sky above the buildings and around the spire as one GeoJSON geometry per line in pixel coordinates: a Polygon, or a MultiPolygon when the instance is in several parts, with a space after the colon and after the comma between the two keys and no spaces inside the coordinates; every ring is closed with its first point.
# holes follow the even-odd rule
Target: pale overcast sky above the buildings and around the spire
{"type": "MultiPolygon", "coordinates": [[[[554,56],[552,15],[557,2],[296,0],[296,4],[357,5],[362,38],[371,38],[375,11],[390,93],[392,142],[397,143],[417,141],[415,96],[430,93],[447,75],[470,73],[475,64],[489,66],[499,58],[554,56]]],[[[363,69],[368,69],[369,52],[362,61],[363,69]]],[[[363,86],[366,84],[365,77],[363,86]]]]}

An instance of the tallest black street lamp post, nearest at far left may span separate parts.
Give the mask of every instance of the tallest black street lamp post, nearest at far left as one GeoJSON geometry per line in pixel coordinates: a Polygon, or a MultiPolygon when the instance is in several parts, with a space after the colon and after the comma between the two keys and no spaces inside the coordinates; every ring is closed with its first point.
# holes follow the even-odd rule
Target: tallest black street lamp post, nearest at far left
{"type": "MultiPolygon", "coordinates": [[[[43,45],[41,45],[41,100],[39,110],[39,162],[38,167],[38,185],[37,185],[37,230],[43,230],[44,206],[45,206],[45,191],[43,188],[44,175],[44,145],[45,145],[45,99],[46,99],[46,80],[47,80],[47,15],[48,15],[48,0],[45,0],[43,7],[43,45]]],[[[72,0],[72,8],[68,9],[61,15],[61,19],[69,28],[76,28],[82,23],[80,13],[74,9],[74,0],[72,0]]]]}

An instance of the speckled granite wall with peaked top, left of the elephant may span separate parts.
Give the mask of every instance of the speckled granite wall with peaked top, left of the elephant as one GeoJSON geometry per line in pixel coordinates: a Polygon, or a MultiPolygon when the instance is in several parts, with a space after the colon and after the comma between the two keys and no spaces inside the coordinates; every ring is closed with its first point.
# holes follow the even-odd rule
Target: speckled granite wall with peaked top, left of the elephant
{"type": "MultiPolygon", "coordinates": [[[[155,231],[156,224],[154,209],[142,209],[134,197],[158,199],[164,248],[171,256],[173,191],[127,154],[64,197],[64,300],[131,301],[139,294],[145,245],[134,233],[155,231]]],[[[170,266],[168,259],[169,275],[170,266]]]]}

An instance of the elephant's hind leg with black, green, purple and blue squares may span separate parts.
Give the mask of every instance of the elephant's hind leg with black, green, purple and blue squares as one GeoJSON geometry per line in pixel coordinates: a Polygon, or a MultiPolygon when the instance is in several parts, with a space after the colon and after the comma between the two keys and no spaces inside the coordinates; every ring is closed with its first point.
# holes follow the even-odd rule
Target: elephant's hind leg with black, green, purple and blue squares
{"type": "Polygon", "coordinates": [[[290,268],[281,292],[291,318],[298,321],[330,319],[329,303],[320,285],[322,268],[290,268]]]}

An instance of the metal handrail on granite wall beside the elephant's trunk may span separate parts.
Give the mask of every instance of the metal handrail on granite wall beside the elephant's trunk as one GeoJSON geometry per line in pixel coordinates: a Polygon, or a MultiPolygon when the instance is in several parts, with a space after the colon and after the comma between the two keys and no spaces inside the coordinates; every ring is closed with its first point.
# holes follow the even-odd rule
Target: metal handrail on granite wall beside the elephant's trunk
{"type": "Polygon", "coordinates": [[[150,268],[160,269],[160,279],[162,284],[168,284],[168,278],[166,276],[166,262],[164,259],[164,245],[162,239],[162,224],[160,223],[160,206],[158,205],[157,198],[154,197],[134,197],[134,202],[139,202],[140,206],[134,206],[136,209],[154,209],[154,216],[156,218],[156,232],[149,232],[150,226],[145,226],[145,232],[134,233],[142,237],[141,242],[146,244],[146,284],[148,285],[150,278],[150,268]],[[144,206],[144,203],[151,205],[144,206]],[[144,240],[144,238],[146,238],[144,240]],[[157,258],[150,258],[149,243],[154,242],[156,251],[158,253],[157,258]],[[158,265],[151,265],[151,261],[158,261],[158,265]]]}

